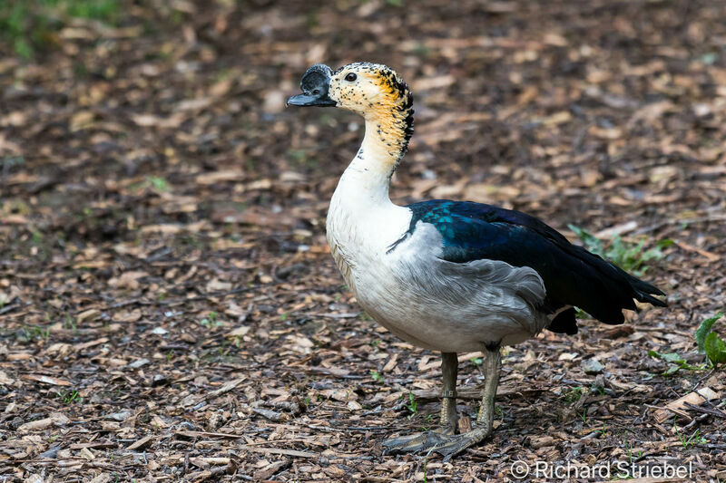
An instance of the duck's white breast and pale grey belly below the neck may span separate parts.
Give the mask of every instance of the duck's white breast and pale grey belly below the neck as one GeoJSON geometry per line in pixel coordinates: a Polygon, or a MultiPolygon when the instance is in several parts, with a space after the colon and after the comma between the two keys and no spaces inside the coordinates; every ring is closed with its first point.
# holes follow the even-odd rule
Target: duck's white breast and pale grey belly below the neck
{"type": "Polygon", "coordinates": [[[441,260],[441,237],[423,224],[390,250],[407,232],[410,210],[391,204],[358,210],[355,217],[351,211],[333,198],[331,253],[358,303],[398,337],[431,350],[473,352],[486,343],[522,342],[546,324],[544,315],[517,294],[524,287],[534,294],[529,298],[544,298],[534,270],[441,260]]]}

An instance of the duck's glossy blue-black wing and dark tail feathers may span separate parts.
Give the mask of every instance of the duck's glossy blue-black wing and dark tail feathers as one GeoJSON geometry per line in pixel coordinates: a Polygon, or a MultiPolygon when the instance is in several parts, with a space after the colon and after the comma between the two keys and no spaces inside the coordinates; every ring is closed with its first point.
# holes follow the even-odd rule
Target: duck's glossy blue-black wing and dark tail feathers
{"type": "MultiPolygon", "coordinates": [[[[418,221],[432,224],[443,238],[445,260],[491,259],[534,268],[544,282],[543,309],[549,312],[574,305],[605,324],[623,324],[623,309],[635,310],[633,298],[665,306],[652,296],[663,295],[655,286],[571,244],[554,228],[520,211],[446,199],[407,208],[413,212],[409,233],[418,221]]],[[[558,314],[549,329],[576,333],[574,309],[558,314]]]]}

